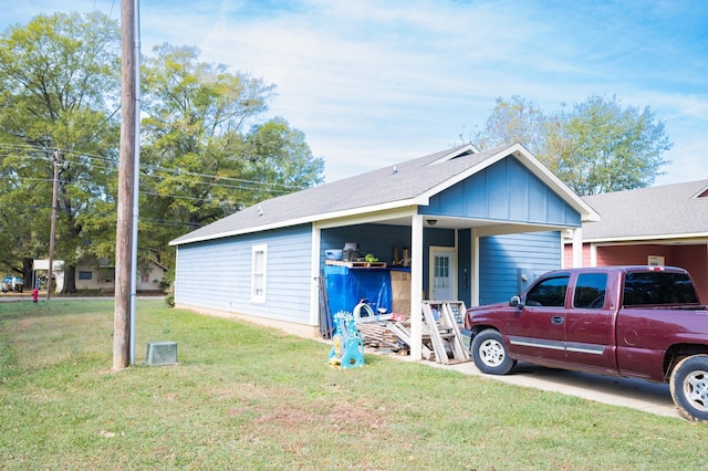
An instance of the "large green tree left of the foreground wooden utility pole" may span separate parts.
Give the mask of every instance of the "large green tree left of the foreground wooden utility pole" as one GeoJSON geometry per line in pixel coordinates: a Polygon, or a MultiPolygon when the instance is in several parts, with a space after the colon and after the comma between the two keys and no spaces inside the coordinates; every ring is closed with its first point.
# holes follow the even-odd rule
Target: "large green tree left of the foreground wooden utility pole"
{"type": "Polygon", "coordinates": [[[49,251],[56,157],[55,259],[66,262],[65,292],[75,291],[76,261],[94,243],[85,221],[112,201],[119,48],[117,23],[100,12],[41,14],[0,36],[0,219],[22,239],[8,259],[49,251]]]}

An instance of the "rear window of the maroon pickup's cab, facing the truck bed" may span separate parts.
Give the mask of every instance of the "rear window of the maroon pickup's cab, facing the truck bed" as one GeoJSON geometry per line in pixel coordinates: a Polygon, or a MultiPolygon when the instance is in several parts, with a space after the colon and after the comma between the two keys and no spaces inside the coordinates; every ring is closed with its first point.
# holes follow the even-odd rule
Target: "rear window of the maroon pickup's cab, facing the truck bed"
{"type": "Polygon", "coordinates": [[[685,273],[632,272],[625,278],[623,304],[698,304],[698,296],[685,273]]]}

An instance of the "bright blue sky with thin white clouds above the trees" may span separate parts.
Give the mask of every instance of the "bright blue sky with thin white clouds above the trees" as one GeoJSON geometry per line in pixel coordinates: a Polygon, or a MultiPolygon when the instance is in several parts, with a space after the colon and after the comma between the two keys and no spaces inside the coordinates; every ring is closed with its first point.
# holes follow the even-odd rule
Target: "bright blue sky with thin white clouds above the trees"
{"type": "MultiPolygon", "coordinates": [[[[2,0],[0,29],[119,0],[2,0]]],[[[325,160],[327,181],[441,150],[483,126],[497,97],[545,112],[591,94],[649,106],[673,163],[656,185],[708,178],[708,2],[153,0],[142,51],[196,45],[277,85],[282,116],[325,160]]]]}

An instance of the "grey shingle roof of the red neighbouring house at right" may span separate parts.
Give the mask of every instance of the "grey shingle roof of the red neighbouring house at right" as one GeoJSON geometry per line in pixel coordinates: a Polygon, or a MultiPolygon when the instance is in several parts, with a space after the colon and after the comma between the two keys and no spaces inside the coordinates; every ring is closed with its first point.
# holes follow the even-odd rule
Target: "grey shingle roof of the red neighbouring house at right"
{"type": "Polygon", "coordinates": [[[583,198],[602,218],[583,224],[583,241],[708,237],[708,180],[583,198]]]}

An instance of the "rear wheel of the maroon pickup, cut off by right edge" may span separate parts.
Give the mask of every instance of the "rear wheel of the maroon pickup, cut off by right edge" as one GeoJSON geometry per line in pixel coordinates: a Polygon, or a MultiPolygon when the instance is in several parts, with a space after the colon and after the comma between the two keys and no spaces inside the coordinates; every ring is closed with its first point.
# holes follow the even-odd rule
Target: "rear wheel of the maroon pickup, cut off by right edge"
{"type": "Polygon", "coordinates": [[[708,355],[688,356],[669,379],[671,399],[688,420],[708,421],[708,355]]]}

